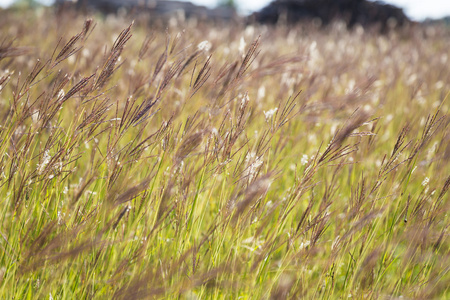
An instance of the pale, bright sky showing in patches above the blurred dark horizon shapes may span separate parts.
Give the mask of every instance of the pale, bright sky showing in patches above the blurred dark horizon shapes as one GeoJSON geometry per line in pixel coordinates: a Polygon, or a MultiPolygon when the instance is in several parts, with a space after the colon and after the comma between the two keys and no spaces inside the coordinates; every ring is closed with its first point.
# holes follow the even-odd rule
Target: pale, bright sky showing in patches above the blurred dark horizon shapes
{"type": "MultiPolygon", "coordinates": [[[[0,0],[1,7],[8,7],[14,3],[51,5],[54,0],[0,0]]],[[[233,5],[238,12],[248,15],[267,6],[270,0],[191,0],[196,5],[204,5],[212,8],[218,5],[233,5]]],[[[387,4],[392,4],[403,9],[405,14],[414,21],[423,21],[425,19],[437,19],[450,15],[450,0],[386,0],[387,4]]]]}

